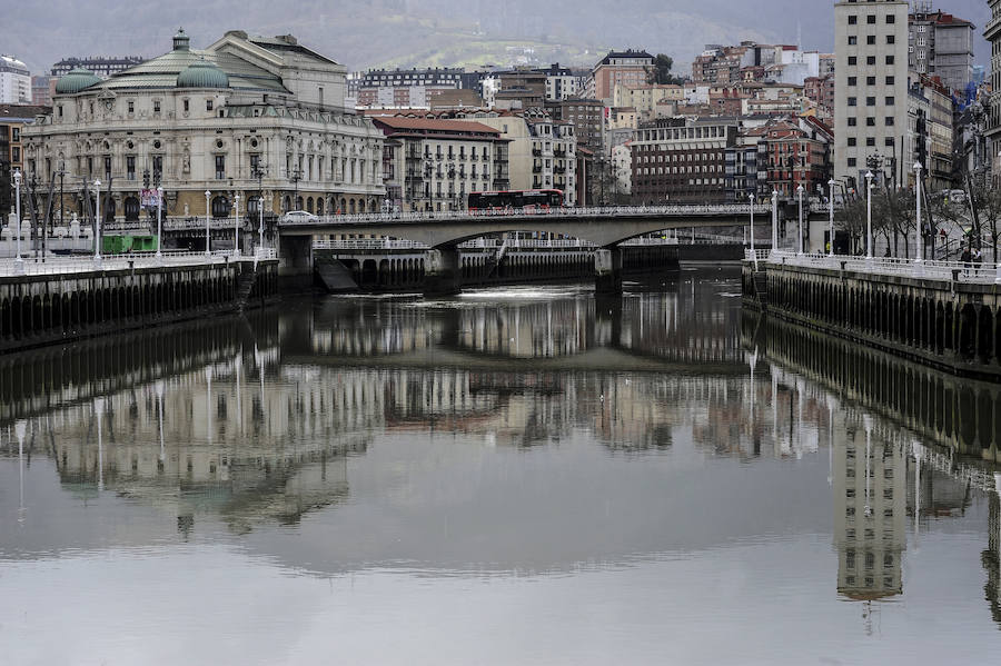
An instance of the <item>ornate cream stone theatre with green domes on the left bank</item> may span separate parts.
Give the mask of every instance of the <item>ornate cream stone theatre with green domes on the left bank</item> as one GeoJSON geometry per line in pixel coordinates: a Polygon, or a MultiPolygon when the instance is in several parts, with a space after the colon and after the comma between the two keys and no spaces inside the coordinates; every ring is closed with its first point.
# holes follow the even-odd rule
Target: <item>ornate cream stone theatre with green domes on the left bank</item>
{"type": "Polygon", "coordinates": [[[234,30],[197,50],[180,30],[170,51],[107,80],[61,77],[52,113],[24,130],[24,168],[46,181],[63,169],[67,211],[82,212],[83,179],[110,182],[106,221],[145,217],[158,183],[169,217],[204,217],[206,190],[217,218],[237,193],[255,222],[261,197],[266,213],[374,211],[383,132],[345,108],[345,74],[293,36],[234,30]]]}

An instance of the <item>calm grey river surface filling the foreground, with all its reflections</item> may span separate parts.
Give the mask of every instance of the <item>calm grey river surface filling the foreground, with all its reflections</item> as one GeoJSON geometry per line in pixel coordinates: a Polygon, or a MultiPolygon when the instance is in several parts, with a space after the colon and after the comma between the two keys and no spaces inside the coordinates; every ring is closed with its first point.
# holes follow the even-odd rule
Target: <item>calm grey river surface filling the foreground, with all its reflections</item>
{"type": "Polygon", "coordinates": [[[0,663],[997,664],[967,424],[998,389],[739,290],[328,298],[3,357],[0,663]],[[911,385],[941,423],[884,397],[911,385]]]}

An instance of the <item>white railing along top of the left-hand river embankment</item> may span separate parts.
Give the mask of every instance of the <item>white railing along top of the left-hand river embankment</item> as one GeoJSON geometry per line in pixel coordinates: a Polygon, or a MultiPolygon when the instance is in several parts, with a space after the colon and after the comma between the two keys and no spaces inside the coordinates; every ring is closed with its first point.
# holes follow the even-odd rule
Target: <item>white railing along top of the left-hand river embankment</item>
{"type": "MultiPolygon", "coordinates": [[[[277,252],[272,248],[258,250],[256,258],[275,259],[277,252]]],[[[158,267],[197,267],[217,264],[228,264],[250,257],[236,257],[232,250],[216,250],[210,255],[205,252],[163,252],[157,257],[153,252],[136,255],[107,255],[100,260],[93,256],[78,257],[47,257],[44,261],[34,259],[4,259],[0,261],[0,277],[32,276],[32,275],[63,275],[76,272],[91,272],[95,270],[129,270],[132,268],[158,267]]]]}

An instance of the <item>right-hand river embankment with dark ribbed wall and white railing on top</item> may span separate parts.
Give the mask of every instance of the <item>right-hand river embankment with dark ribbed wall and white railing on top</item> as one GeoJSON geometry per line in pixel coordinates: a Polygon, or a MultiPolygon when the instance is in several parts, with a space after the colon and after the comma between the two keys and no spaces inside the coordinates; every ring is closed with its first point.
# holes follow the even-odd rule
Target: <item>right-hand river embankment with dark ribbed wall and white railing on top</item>
{"type": "Polygon", "coordinates": [[[959,375],[1001,378],[1001,267],[760,250],[747,307],[959,375]]]}

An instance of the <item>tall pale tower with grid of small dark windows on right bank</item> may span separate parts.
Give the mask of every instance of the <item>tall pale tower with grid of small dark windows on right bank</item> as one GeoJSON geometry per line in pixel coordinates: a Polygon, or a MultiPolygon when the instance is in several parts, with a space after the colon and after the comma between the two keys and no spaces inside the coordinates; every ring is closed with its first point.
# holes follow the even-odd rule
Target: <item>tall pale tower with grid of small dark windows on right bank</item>
{"type": "MultiPolygon", "coordinates": [[[[890,158],[901,158],[908,133],[909,10],[899,0],[834,4],[834,179],[846,191],[864,187],[870,157],[883,157],[888,170],[890,158]]],[[[908,152],[903,167],[913,179],[908,152]]]]}

